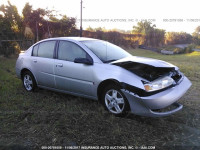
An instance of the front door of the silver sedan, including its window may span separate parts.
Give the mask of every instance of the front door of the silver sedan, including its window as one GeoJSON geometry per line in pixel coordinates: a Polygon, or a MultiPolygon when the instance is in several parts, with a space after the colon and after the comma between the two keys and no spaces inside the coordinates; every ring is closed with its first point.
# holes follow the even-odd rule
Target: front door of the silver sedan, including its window
{"type": "Polygon", "coordinates": [[[89,55],[77,44],[60,41],[55,59],[56,88],[72,93],[93,96],[93,65],[74,63],[75,58],[89,55]]]}

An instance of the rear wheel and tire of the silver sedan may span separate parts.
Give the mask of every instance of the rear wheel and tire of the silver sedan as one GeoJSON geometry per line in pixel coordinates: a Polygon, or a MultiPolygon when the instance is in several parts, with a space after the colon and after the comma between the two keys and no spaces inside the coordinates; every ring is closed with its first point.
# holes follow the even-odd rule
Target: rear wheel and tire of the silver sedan
{"type": "Polygon", "coordinates": [[[36,89],[36,81],[33,74],[30,71],[25,71],[22,77],[23,86],[26,91],[32,92],[36,89]]]}

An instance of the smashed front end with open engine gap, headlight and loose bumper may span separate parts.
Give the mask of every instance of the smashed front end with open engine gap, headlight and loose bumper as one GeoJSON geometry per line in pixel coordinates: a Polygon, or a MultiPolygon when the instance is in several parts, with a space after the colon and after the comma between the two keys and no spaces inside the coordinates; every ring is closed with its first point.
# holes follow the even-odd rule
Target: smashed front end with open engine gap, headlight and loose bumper
{"type": "Polygon", "coordinates": [[[129,101],[132,113],[162,117],[182,109],[183,106],[176,101],[190,88],[191,82],[176,66],[153,66],[133,61],[113,64],[142,78],[143,89],[121,82],[122,92],[129,101]]]}

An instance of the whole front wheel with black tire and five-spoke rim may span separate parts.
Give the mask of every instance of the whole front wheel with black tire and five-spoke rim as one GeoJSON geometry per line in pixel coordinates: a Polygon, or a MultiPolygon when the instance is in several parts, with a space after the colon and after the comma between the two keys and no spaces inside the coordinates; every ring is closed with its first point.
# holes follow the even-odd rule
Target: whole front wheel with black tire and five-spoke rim
{"type": "Polygon", "coordinates": [[[128,100],[118,85],[108,85],[101,95],[101,102],[115,116],[125,116],[130,110],[128,100]]]}

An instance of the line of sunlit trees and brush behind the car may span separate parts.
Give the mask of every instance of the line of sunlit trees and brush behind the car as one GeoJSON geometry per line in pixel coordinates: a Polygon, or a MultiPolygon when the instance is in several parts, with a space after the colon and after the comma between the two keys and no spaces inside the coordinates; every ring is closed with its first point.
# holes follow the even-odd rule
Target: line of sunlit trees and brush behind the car
{"type": "MultiPolygon", "coordinates": [[[[44,38],[59,36],[79,36],[75,18],[57,14],[55,10],[41,8],[34,10],[29,3],[25,4],[22,15],[19,15],[17,7],[9,1],[7,5],[0,6],[0,54],[14,53],[16,49],[21,49],[23,41],[31,40],[33,44],[44,38]]],[[[117,29],[89,27],[83,31],[83,36],[132,48],[138,45],[149,47],[188,43],[200,45],[200,26],[190,35],[186,32],[166,32],[156,28],[151,22],[141,21],[133,26],[130,33],[117,29]]]]}

